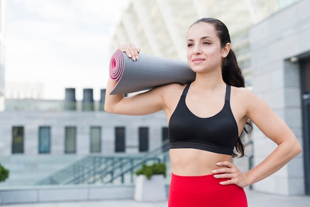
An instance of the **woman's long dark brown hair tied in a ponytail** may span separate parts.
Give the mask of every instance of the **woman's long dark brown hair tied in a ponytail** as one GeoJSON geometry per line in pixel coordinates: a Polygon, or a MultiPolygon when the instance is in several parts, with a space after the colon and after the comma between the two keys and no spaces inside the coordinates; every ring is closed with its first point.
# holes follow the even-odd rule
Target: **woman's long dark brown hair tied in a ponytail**
{"type": "MultiPolygon", "coordinates": [[[[191,27],[200,22],[205,22],[205,23],[209,23],[213,25],[215,29],[215,34],[220,40],[221,48],[224,48],[227,43],[231,42],[228,29],[226,25],[220,20],[214,19],[214,18],[202,18],[194,22],[194,24],[192,24],[191,27]]],[[[235,87],[245,87],[244,77],[238,65],[236,55],[231,49],[228,55],[222,60],[222,77],[223,77],[224,82],[227,85],[235,86],[235,87]]],[[[253,126],[252,126],[251,121],[247,120],[246,126],[244,127],[243,131],[249,134],[252,129],[253,129],[253,126]],[[248,130],[248,128],[250,130],[248,130]]],[[[245,147],[240,137],[238,138],[235,148],[237,152],[241,154],[239,157],[243,157],[245,147]]],[[[236,156],[238,156],[238,154],[233,153],[233,157],[236,157],[236,156]]]]}

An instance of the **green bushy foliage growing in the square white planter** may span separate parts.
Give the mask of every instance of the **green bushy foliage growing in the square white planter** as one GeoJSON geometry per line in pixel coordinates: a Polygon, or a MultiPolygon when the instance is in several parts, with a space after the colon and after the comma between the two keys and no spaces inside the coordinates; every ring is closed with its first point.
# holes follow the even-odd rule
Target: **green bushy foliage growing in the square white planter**
{"type": "Polygon", "coordinates": [[[166,177],[166,164],[154,162],[151,165],[147,165],[143,163],[142,168],[136,171],[136,175],[145,175],[148,180],[151,179],[152,175],[163,175],[166,177]]]}

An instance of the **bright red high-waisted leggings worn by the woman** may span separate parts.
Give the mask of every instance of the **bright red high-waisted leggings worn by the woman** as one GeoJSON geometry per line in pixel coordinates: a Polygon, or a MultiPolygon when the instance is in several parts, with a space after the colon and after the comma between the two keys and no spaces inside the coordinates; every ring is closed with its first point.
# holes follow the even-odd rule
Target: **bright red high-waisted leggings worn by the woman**
{"type": "Polygon", "coordinates": [[[168,207],[248,207],[243,188],[219,184],[225,180],[213,175],[179,176],[172,173],[168,207]]]}

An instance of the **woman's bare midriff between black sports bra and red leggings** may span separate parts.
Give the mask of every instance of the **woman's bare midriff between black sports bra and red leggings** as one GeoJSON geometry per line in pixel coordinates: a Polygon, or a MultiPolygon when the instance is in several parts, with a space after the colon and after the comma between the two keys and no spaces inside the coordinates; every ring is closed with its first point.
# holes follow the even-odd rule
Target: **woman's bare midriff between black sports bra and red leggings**
{"type": "Polygon", "coordinates": [[[212,174],[212,170],[224,168],[217,166],[219,161],[232,161],[231,155],[212,153],[191,148],[170,149],[172,173],[180,176],[201,176],[212,174]]]}

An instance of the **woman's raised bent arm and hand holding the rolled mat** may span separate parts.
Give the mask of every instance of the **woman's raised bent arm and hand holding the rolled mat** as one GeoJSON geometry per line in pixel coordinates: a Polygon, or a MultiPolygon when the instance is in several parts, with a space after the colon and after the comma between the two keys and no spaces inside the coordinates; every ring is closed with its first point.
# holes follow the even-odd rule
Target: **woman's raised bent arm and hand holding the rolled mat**
{"type": "MultiPolygon", "coordinates": [[[[133,60],[139,58],[138,53],[140,49],[137,49],[133,44],[120,46],[117,50],[126,52],[127,56],[133,60]]],[[[163,109],[163,87],[157,87],[148,92],[130,97],[124,97],[123,94],[110,95],[116,83],[111,78],[108,79],[104,103],[105,111],[124,115],[145,115],[163,109]]]]}

